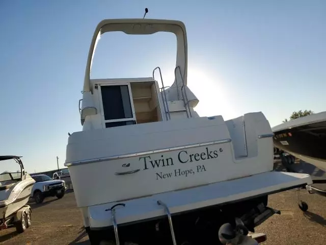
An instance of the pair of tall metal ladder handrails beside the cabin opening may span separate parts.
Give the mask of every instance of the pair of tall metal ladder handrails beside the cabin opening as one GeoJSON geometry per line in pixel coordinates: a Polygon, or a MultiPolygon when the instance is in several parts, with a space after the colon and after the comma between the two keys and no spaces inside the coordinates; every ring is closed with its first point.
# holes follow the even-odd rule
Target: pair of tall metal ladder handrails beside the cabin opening
{"type": "MultiPolygon", "coordinates": [[[[154,73],[155,73],[155,70],[158,69],[159,71],[159,76],[160,76],[160,79],[161,79],[161,85],[162,87],[159,88],[160,89],[160,92],[161,92],[161,96],[162,96],[162,101],[163,101],[163,106],[164,106],[164,111],[165,111],[165,114],[166,114],[166,118],[167,120],[171,120],[171,113],[170,113],[170,110],[169,110],[169,103],[168,103],[168,100],[167,100],[167,95],[166,95],[166,91],[165,89],[169,86],[164,86],[164,82],[163,82],[163,79],[162,79],[162,73],[161,73],[161,69],[159,66],[157,66],[154,70],[153,70],[153,79],[155,80],[155,77],[154,77],[154,73]]],[[[180,66],[176,66],[175,69],[174,69],[174,76],[175,76],[175,81],[176,81],[176,86],[177,86],[177,98],[178,98],[178,101],[180,100],[180,94],[179,94],[179,86],[178,86],[178,82],[177,82],[177,70],[179,70],[179,74],[180,74],[180,78],[181,78],[181,81],[182,81],[182,86],[181,86],[181,95],[182,95],[182,100],[183,100],[183,105],[184,105],[184,108],[185,108],[185,112],[186,112],[186,115],[187,115],[187,118],[189,117],[192,117],[192,112],[191,112],[191,109],[190,109],[190,106],[189,106],[189,101],[188,101],[188,97],[187,97],[187,92],[185,90],[185,85],[184,85],[184,79],[182,77],[182,74],[181,74],[181,70],[180,70],[180,66]]]]}

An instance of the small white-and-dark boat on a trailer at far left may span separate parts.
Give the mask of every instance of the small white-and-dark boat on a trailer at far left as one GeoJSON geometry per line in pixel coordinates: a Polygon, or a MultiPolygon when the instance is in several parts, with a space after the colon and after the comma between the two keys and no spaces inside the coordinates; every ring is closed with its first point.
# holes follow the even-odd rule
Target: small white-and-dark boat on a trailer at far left
{"type": "Polygon", "coordinates": [[[4,172],[0,174],[0,213],[2,224],[29,201],[35,183],[35,180],[24,170],[20,157],[0,156],[0,161],[11,159],[19,164],[20,172],[4,172]]]}

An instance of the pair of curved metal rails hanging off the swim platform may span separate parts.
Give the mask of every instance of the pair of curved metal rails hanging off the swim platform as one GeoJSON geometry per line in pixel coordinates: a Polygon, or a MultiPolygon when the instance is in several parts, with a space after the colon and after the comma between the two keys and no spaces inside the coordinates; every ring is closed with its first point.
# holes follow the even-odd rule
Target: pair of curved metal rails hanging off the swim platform
{"type": "MultiPolygon", "coordinates": [[[[176,239],[175,239],[175,234],[174,234],[174,229],[173,229],[173,223],[172,223],[172,216],[171,216],[171,212],[169,207],[162,201],[158,200],[157,205],[160,205],[162,207],[164,207],[165,212],[167,213],[168,219],[169,219],[169,225],[170,225],[170,230],[171,230],[171,236],[172,236],[172,241],[173,241],[173,245],[177,245],[176,239]]],[[[111,217],[112,217],[112,224],[113,224],[113,228],[114,228],[114,234],[115,234],[115,238],[116,238],[116,244],[120,245],[120,239],[119,239],[119,233],[118,233],[118,224],[117,224],[117,220],[116,220],[116,212],[115,212],[115,208],[117,206],[123,206],[125,207],[124,203],[118,203],[113,205],[111,208],[105,209],[105,211],[111,211],[111,217]]]]}

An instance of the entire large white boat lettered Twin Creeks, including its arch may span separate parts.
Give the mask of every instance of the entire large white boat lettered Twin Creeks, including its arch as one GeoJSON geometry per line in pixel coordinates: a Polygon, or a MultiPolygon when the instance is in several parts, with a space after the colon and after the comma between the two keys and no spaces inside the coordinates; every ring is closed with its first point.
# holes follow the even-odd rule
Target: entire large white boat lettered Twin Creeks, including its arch
{"type": "Polygon", "coordinates": [[[81,101],[83,131],[69,136],[65,166],[92,244],[219,244],[230,220],[254,231],[277,212],[267,207],[268,194],[312,183],[307,174],[273,171],[273,132],[263,113],[224,120],[195,112],[181,21],[101,21],[81,101]],[[165,89],[159,67],[148,78],[90,79],[95,46],[114,31],[174,33],[173,85],[165,89]]]}

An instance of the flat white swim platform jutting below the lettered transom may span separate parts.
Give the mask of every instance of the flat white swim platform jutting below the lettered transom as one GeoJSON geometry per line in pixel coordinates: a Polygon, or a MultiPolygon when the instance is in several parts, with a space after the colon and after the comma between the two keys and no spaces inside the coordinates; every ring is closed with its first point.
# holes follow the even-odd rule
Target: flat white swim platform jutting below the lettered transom
{"type": "Polygon", "coordinates": [[[150,197],[90,206],[88,207],[88,216],[91,228],[96,229],[112,226],[111,212],[105,211],[105,209],[111,208],[117,203],[125,204],[125,207],[116,207],[117,224],[124,224],[166,215],[164,207],[157,204],[158,200],[164,202],[173,214],[251,198],[264,193],[279,192],[305,184],[312,184],[311,177],[307,174],[270,171],[236,180],[159,193],[150,197]]]}

